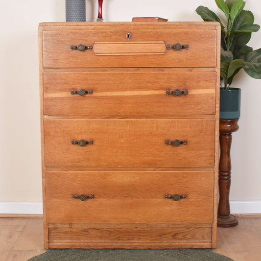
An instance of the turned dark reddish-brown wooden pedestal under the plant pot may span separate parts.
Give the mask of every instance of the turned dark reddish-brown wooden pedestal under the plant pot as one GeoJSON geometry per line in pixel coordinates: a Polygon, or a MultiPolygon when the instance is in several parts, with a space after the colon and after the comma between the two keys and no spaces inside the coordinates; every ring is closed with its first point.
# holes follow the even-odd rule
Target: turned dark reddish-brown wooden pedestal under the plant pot
{"type": "Polygon", "coordinates": [[[232,132],[238,130],[238,119],[220,119],[219,121],[219,203],[217,226],[234,227],[237,226],[237,217],[230,214],[229,192],[231,184],[231,158],[230,148],[232,142],[232,132]]]}

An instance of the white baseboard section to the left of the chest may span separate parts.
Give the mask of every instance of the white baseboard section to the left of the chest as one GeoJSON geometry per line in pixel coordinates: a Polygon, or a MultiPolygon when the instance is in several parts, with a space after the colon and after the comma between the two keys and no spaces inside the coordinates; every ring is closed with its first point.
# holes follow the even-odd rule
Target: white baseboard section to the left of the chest
{"type": "Polygon", "coordinates": [[[43,203],[0,202],[0,214],[43,214],[43,203]]]}

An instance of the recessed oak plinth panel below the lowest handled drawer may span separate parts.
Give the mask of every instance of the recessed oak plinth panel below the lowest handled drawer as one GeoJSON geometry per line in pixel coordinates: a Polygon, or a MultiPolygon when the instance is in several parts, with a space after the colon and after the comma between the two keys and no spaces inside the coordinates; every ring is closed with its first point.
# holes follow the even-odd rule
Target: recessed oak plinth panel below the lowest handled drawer
{"type": "MultiPolygon", "coordinates": [[[[149,224],[150,225],[150,224],[149,224]]],[[[212,228],[49,228],[49,248],[211,248],[212,228]]]]}

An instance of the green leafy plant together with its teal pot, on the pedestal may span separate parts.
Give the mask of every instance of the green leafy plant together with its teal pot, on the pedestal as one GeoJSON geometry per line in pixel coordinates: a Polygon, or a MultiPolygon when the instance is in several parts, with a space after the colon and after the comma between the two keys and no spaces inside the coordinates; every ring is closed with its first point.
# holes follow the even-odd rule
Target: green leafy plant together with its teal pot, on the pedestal
{"type": "Polygon", "coordinates": [[[251,33],[257,32],[260,26],[254,24],[254,15],[250,11],[243,10],[245,1],[215,2],[225,14],[222,18],[225,25],[208,7],[199,6],[196,12],[204,21],[215,21],[221,25],[220,119],[238,119],[241,90],[230,86],[241,68],[251,77],[261,79],[261,48],[253,50],[246,45],[251,33]]]}

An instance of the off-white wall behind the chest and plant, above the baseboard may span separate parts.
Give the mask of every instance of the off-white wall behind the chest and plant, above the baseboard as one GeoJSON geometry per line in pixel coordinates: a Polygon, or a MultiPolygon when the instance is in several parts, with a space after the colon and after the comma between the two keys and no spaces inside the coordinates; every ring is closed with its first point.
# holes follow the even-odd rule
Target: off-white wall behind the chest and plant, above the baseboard
{"type": "MultiPolygon", "coordinates": [[[[261,24],[261,2],[246,1],[244,9],[261,24]]],[[[104,0],[103,17],[110,22],[135,16],[201,21],[195,12],[199,5],[221,12],[214,0],[104,0]]],[[[1,0],[0,6],[0,202],[41,202],[37,26],[64,22],[65,0],[1,0]]],[[[86,0],[86,14],[87,21],[96,18],[97,0],[86,0]]],[[[261,30],[249,45],[261,47],[261,30]]],[[[261,202],[261,80],[241,71],[234,85],[242,88],[242,111],[233,135],[230,199],[261,202]]]]}

